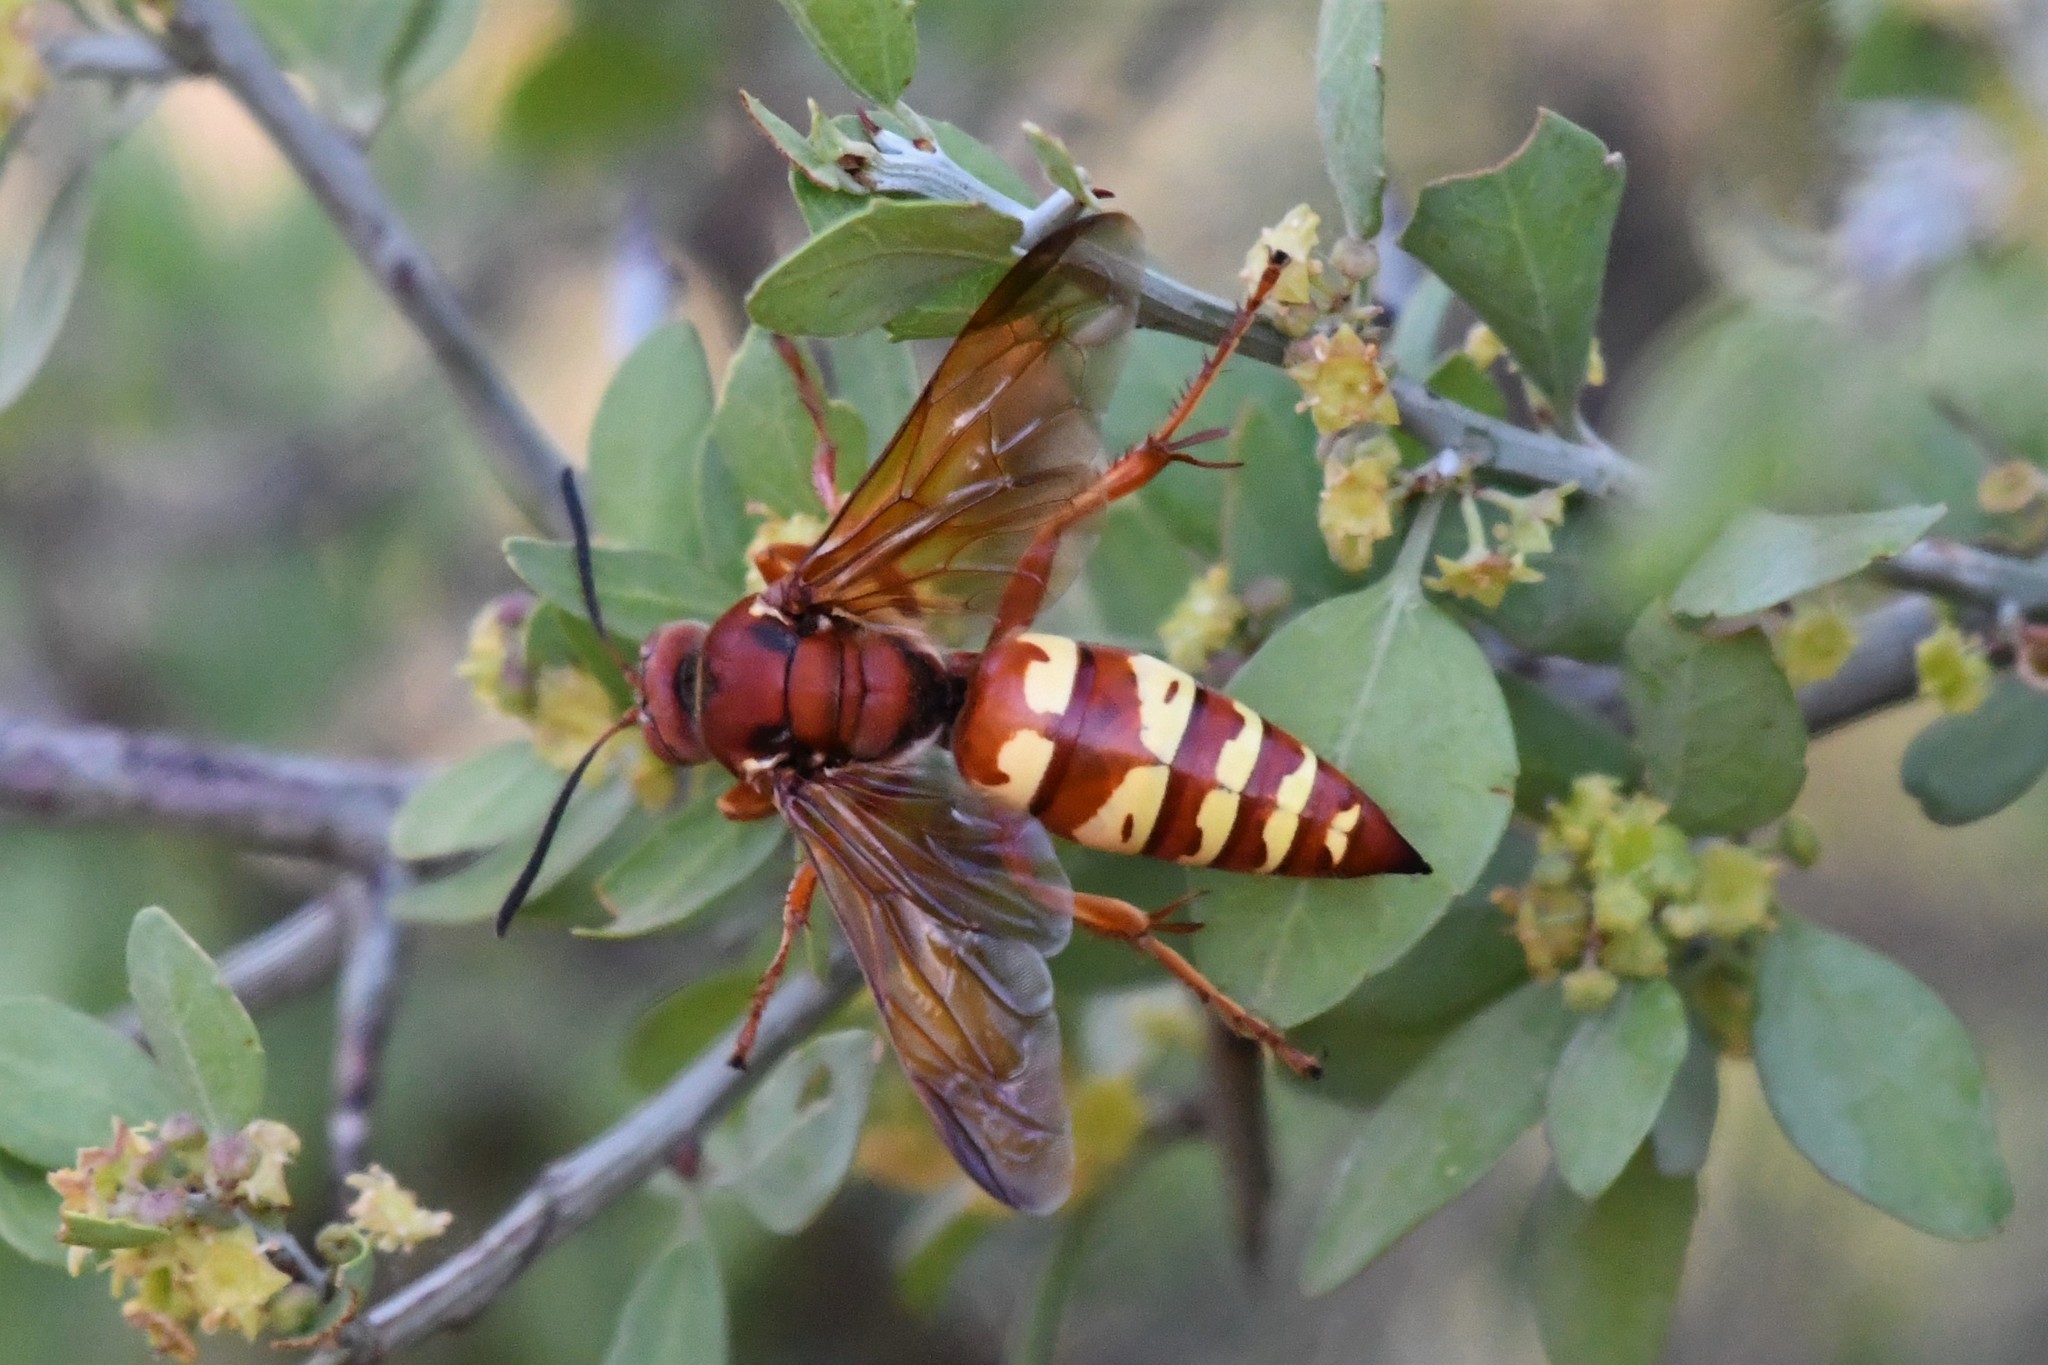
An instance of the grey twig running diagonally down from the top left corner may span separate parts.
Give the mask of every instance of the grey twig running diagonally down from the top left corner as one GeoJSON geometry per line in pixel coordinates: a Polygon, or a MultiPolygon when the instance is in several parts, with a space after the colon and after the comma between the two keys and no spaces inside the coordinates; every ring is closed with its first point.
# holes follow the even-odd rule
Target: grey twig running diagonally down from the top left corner
{"type": "Polygon", "coordinates": [[[561,452],[498,372],[455,289],[385,199],[362,151],[299,98],[233,0],[180,0],[164,51],[186,72],[217,78],[262,125],[434,352],[494,456],[500,487],[535,526],[565,534],[555,501],[561,452]]]}

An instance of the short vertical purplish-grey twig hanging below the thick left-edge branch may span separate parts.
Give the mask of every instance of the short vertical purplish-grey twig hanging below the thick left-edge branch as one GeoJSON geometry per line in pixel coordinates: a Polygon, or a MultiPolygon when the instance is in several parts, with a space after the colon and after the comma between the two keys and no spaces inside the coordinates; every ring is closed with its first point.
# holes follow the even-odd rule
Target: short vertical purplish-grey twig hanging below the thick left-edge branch
{"type": "Polygon", "coordinates": [[[336,1179],[365,1166],[371,1107],[383,1068],[383,1046],[397,1005],[403,933],[391,921],[391,896],[410,882],[395,862],[377,870],[367,894],[346,902],[346,948],[334,993],[334,1103],[328,1109],[328,1164],[336,1179]]]}

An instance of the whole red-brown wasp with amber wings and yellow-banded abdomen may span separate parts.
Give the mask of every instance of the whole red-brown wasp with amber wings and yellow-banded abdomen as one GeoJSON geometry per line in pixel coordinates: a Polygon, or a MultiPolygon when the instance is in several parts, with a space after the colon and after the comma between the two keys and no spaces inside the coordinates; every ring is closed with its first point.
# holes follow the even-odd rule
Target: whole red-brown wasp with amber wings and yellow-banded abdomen
{"type": "MultiPolygon", "coordinates": [[[[1202,436],[1176,434],[1280,268],[1161,428],[1110,463],[1100,413],[1137,323],[1141,260],[1137,225],[1116,213],[1032,248],[844,499],[823,399],[797,364],[819,420],[823,536],[762,553],[768,587],[717,622],[649,636],[629,667],[639,704],[612,731],[639,724],[676,765],[721,763],[737,778],[727,817],[780,814],[797,833],[782,939],[733,1064],[823,884],[946,1146],[1028,1212],[1057,1207],[1073,1177],[1047,958],[1075,923],[1155,958],[1296,1072],[1319,1070],[1161,941],[1190,927],[1167,923],[1178,907],[1075,892],[1049,833],[1231,872],[1427,872],[1370,796],[1241,702],[1159,659],[1032,630],[1094,516],[1167,465],[1200,463],[1186,450],[1202,436]],[[948,649],[942,630],[985,645],[948,649]]],[[[571,477],[563,493],[598,620],[571,477]]],[[[567,788],[557,814],[565,802],[567,788]]]]}

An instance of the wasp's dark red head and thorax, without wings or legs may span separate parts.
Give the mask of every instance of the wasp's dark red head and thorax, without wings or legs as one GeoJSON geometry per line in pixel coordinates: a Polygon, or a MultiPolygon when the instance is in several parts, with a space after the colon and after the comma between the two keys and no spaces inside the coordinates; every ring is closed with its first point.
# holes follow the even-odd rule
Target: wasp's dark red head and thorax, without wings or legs
{"type": "Polygon", "coordinates": [[[748,778],[893,757],[956,708],[944,661],[893,632],[825,612],[739,600],[709,630],[662,628],[643,651],[641,729],[672,763],[717,759],[748,778]]]}

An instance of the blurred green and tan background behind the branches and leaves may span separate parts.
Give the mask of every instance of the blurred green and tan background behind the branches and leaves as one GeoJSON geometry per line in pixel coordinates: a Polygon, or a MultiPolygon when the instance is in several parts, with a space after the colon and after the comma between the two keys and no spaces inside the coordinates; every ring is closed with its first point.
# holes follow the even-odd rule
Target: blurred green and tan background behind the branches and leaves
{"type": "MultiPolygon", "coordinates": [[[[348,8],[252,2],[344,119],[360,113],[338,57],[348,8]]],[[[1919,111],[1909,133],[1933,137],[1925,164],[1911,160],[1919,143],[1901,149],[1896,129],[1876,127],[1911,106],[1837,100],[1843,35],[1874,2],[1391,8],[1397,190],[1495,162],[1536,104],[1628,158],[1602,323],[1612,383],[1593,399],[1612,438],[1681,477],[1735,460],[1759,487],[1843,471],[1882,481],[1886,442],[1905,440],[1884,422],[1886,377],[1933,372],[1989,401],[2015,448],[2048,452],[2034,213],[2048,20],[2028,16],[2040,6],[1905,6],[2005,74],[1982,98],[1964,76],[1968,113],[1948,106],[1968,121],[1960,131],[1935,119],[1929,133],[1919,111]],[[1769,303],[1823,289],[1849,295],[1829,301],[1829,325],[1769,303]]],[[[1169,270],[1223,291],[1288,205],[1335,217],[1313,31],[1309,0],[924,0],[909,98],[1018,164],[1020,119],[1059,131],[1169,270]]],[[[455,65],[377,133],[381,178],[569,450],[633,336],[686,313],[717,368],[745,284],[801,237],[739,88],[784,113],[807,96],[846,102],[768,0],[487,0],[455,65]]],[[[33,190],[0,188],[0,248],[18,246],[33,190]]],[[[453,667],[467,618],[512,585],[498,540],[524,528],[416,338],[219,90],[170,90],[100,192],[70,325],[0,415],[0,706],[393,759],[510,735],[475,712],[453,667]]],[[[1786,902],[1911,966],[1970,1027],[2017,1212],[1976,1246],[1886,1220],[1804,1166],[1749,1068],[1724,1064],[1673,1361],[2042,1359],[2048,796],[1964,831],[1927,825],[1896,780],[1923,720],[1888,714],[1817,743],[1800,810],[1825,862],[1792,878],[1786,902]]],[[[219,952],[315,888],[303,868],[188,839],[0,827],[0,995],[109,1009],[137,907],[166,905],[219,952]]],[[[541,1162],[631,1103],[621,1046],[643,1005],[688,974],[686,956],[676,939],[420,933],[373,1152],[455,1209],[451,1240],[475,1232],[541,1162]]],[[[260,1023],[270,1109],[309,1138],[315,1189],[330,999],[260,1023]]],[[[1507,1254],[1540,1144],[1305,1306],[1288,1257],[1337,1119],[1313,1097],[1282,1105],[1296,1113],[1270,1281],[1231,1252],[1214,1154],[1180,1144],[1096,1220],[1059,1359],[1542,1359],[1507,1254]]],[[[664,1236],[662,1209],[627,1201],[469,1332],[408,1359],[598,1361],[664,1236]]],[[[1051,1230],[1004,1228],[926,1312],[891,1281],[903,1212],[854,1181],[799,1238],[721,1228],[735,1359],[1001,1359],[1051,1230]]],[[[219,1340],[207,1353],[274,1359],[219,1340]]],[[[0,1254],[0,1361],[143,1357],[98,1279],[0,1254]]]]}

